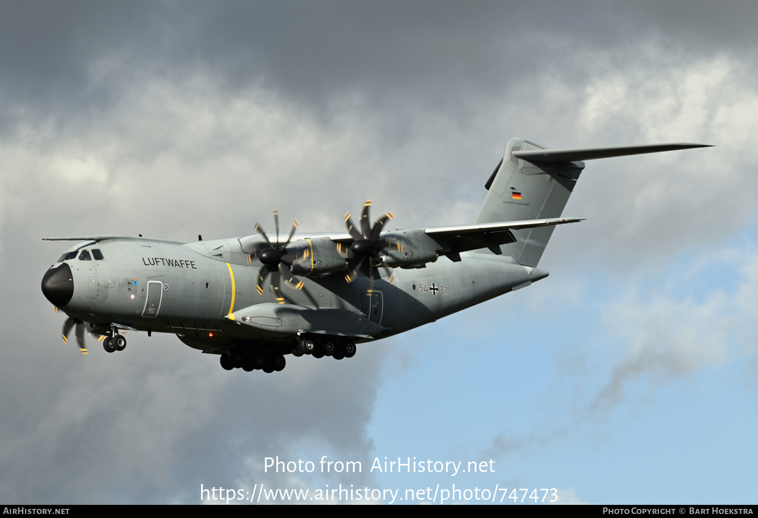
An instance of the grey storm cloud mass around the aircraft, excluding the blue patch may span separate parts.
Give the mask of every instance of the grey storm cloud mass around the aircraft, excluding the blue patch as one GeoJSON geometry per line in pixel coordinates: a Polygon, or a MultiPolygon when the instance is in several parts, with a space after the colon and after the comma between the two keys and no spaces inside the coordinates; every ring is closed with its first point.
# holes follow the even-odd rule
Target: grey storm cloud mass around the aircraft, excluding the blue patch
{"type": "Polygon", "coordinates": [[[257,481],[271,454],[368,460],[393,348],[268,377],[171,335],[80,357],[39,291],[61,253],[43,236],[239,236],[274,208],[334,230],[365,198],[398,226],[465,223],[511,135],[719,144],[588,162],[566,212],[589,219],[556,232],[547,267],[628,267],[738,228],[756,186],[739,152],[755,143],[756,7],[681,5],[5,2],[0,496],[194,502],[201,482],[257,481]],[[736,192],[717,223],[705,189],[736,192]]]}

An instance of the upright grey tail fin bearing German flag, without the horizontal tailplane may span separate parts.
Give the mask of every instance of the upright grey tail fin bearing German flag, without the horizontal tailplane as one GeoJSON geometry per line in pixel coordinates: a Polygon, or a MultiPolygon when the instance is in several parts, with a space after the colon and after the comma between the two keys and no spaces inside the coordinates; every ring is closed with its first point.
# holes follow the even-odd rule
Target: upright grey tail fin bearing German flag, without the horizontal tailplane
{"type": "MultiPolygon", "coordinates": [[[[487,182],[475,223],[538,220],[560,217],[576,184],[584,162],[545,163],[516,158],[514,151],[547,149],[526,139],[509,139],[500,167],[487,182]]],[[[547,246],[554,226],[514,230],[515,243],[501,245],[503,254],[521,264],[536,267],[547,246]]]]}

